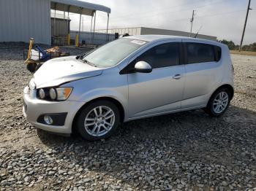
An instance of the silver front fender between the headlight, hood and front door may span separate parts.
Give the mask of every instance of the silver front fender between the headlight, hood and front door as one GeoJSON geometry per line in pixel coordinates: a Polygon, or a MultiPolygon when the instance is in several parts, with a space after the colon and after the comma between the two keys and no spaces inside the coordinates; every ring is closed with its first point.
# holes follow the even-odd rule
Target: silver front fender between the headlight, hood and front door
{"type": "Polygon", "coordinates": [[[106,69],[101,76],[80,79],[62,87],[74,87],[68,100],[83,105],[97,98],[113,98],[123,106],[124,120],[128,118],[127,75],[119,75],[118,69],[106,69]]]}

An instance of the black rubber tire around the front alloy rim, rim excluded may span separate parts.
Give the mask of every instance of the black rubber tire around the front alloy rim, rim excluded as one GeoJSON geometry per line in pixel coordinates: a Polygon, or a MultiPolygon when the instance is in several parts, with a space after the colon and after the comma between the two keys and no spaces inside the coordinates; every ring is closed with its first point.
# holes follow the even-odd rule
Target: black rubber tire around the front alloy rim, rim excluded
{"type": "MultiPolygon", "coordinates": [[[[102,112],[103,112],[103,110],[102,110],[102,112]]],[[[111,101],[100,100],[100,101],[92,102],[91,104],[85,106],[80,111],[80,113],[78,114],[78,117],[76,118],[76,121],[75,121],[75,124],[76,124],[75,128],[76,128],[76,130],[78,130],[78,133],[80,134],[80,136],[83,137],[83,139],[86,139],[87,141],[97,141],[100,139],[108,139],[108,137],[113,135],[113,133],[116,131],[116,128],[118,128],[119,122],[120,122],[120,113],[119,113],[119,110],[118,110],[118,107],[116,106],[116,104],[113,104],[113,102],[111,102],[111,101]],[[114,114],[113,126],[107,133],[105,133],[102,136],[92,136],[86,130],[84,123],[85,123],[87,114],[89,114],[89,112],[91,113],[91,111],[94,108],[97,108],[99,106],[102,106],[102,107],[105,106],[105,107],[112,109],[113,114],[114,114]]],[[[99,123],[97,123],[97,124],[99,124],[99,123]]],[[[100,128],[100,129],[102,129],[102,128],[100,128]]]]}

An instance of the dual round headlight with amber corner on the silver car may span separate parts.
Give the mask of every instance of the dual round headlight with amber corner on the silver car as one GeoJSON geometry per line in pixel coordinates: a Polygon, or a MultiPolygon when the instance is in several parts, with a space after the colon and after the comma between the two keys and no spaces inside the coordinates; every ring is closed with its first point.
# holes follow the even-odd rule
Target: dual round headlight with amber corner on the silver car
{"type": "Polygon", "coordinates": [[[40,99],[51,101],[64,101],[69,97],[72,89],[72,87],[41,88],[38,90],[37,95],[40,99]]]}

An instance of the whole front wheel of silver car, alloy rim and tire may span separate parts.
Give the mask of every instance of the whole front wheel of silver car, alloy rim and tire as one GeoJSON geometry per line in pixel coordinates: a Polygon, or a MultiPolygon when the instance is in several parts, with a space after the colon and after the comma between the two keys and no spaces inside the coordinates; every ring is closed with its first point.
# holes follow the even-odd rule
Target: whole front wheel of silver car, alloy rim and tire
{"type": "Polygon", "coordinates": [[[83,139],[107,139],[118,127],[118,107],[110,101],[95,101],[84,107],[78,115],[76,128],[83,139]]]}

